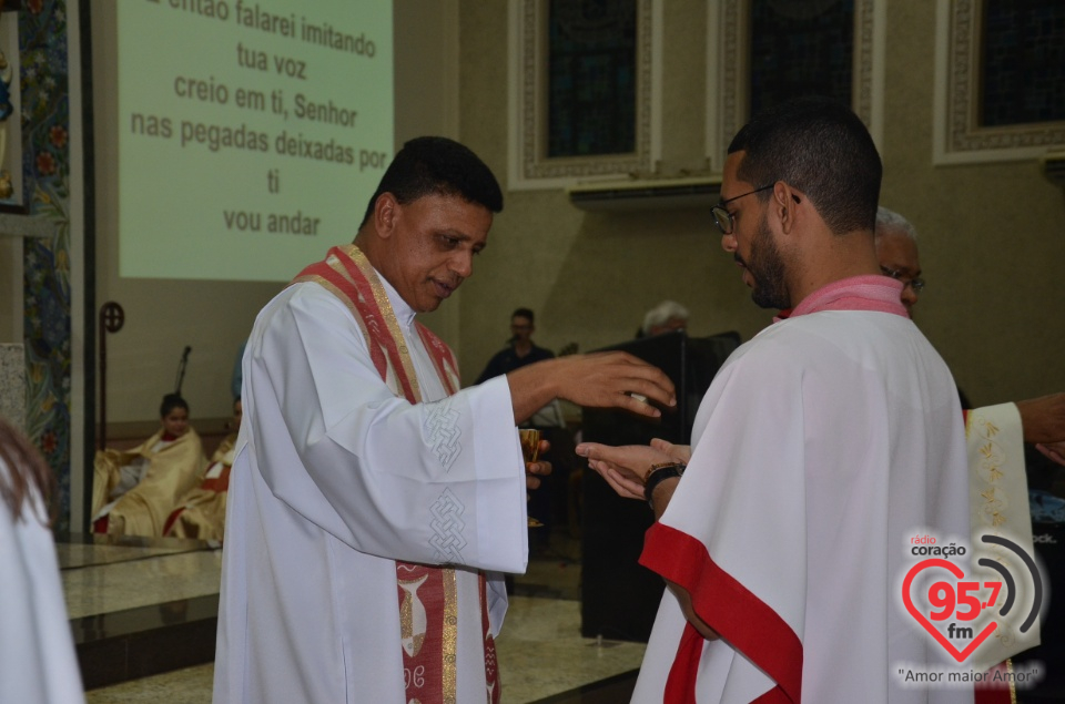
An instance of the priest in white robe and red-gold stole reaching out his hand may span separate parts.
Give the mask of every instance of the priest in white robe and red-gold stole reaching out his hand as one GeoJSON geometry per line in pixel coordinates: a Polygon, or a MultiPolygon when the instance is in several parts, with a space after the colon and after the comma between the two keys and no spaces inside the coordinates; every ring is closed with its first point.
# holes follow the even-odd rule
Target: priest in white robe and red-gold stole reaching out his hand
{"type": "Polygon", "coordinates": [[[498,572],[527,563],[517,422],[557,396],[643,415],[659,411],[626,392],[674,402],[668,378],[628,356],[545,361],[458,390],[450,350],[415,315],[470,275],[501,206],[469,150],[413,140],[355,243],[260,313],[215,704],[498,702],[498,572]]]}

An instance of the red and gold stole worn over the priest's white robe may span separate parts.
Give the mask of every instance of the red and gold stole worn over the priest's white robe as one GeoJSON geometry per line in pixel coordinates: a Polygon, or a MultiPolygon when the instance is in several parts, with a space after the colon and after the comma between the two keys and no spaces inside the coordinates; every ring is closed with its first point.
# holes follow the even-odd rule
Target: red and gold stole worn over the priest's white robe
{"type": "MultiPolygon", "coordinates": [[[[312,264],[293,283],[314,282],[335,295],[358,323],[374,368],[398,396],[422,401],[414,363],[385,287],[366,255],[355,245],[329,249],[325,261],[312,264]]],[[[458,365],[447,345],[420,323],[418,335],[448,395],[459,389],[458,365]]],[[[496,646],[488,632],[485,575],[480,575],[481,635],[485,644],[486,700],[499,701],[496,646]]],[[[404,683],[408,702],[455,704],[458,644],[458,600],[455,570],[396,562],[396,590],[402,631],[404,683]]]]}

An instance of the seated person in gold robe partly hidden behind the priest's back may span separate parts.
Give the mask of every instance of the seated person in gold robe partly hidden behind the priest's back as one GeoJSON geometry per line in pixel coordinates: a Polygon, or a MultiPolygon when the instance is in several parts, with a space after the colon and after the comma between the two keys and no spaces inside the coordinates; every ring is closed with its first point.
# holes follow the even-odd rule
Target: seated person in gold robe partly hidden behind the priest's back
{"type": "Polygon", "coordinates": [[[225,532],[225,498],[230,490],[230,468],[241,429],[243,407],[233,401],[231,432],[211,457],[211,463],[199,487],[178,501],[178,508],[166,519],[163,534],[169,538],[196,538],[221,542],[225,532]]]}

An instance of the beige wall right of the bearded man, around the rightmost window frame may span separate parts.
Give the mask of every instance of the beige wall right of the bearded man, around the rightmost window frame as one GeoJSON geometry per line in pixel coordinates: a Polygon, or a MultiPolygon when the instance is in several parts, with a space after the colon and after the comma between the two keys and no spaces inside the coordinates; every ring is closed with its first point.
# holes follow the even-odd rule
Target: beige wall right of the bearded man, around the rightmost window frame
{"type": "Polygon", "coordinates": [[[974,404],[1065,389],[1065,193],[1035,161],[932,165],[935,4],[888,13],[881,200],[917,227],[915,319],[974,404]]]}

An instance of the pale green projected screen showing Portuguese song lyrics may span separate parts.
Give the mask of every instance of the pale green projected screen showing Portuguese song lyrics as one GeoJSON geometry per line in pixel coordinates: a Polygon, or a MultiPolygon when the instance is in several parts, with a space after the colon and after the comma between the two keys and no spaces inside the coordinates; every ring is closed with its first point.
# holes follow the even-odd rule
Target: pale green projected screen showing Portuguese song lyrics
{"type": "Polygon", "coordinates": [[[285,235],[256,242],[287,253],[270,274],[282,277],[316,236],[351,237],[358,194],[392,156],[390,12],[349,0],[130,0],[119,16],[122,226],[142,233],[122,252],[159,252],[172,222],[231,265],[248,235],[285,235]],[[171,185],[168,172],[184,180],[171,185]],[[153,207],[131,192],[195,205],[153,207]]]}

